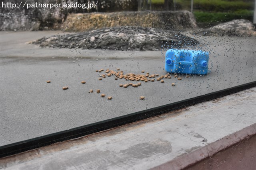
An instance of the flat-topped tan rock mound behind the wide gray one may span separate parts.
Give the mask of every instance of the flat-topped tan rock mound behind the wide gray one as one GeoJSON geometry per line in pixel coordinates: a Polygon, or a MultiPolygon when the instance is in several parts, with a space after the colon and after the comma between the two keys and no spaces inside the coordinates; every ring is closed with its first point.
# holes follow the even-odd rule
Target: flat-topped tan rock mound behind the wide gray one
{"type": "Polygon", "coordinates": [[[104,27],[140,26],[170,30],[197,28],[189,11],[142,11],[69,14],[62,24],[64,31],[88,31],[104,27]]]}

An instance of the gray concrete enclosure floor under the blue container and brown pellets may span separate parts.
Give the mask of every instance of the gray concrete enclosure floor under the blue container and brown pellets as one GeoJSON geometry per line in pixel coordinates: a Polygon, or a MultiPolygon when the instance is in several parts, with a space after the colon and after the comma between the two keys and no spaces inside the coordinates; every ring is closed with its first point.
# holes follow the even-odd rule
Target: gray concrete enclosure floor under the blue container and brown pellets
{"type": "Polygon", "coordinates": [[[26,43],[56,33],[63,34],[0,32],[0,146],[256,80],[255,37],[194,36],[201,42],[195,49],[210,51],[210,74],[181,76],[181,81],[172,76],[163,84],[142,82],[138,88],[125,89],[118,86],[125,80],[99,81],[95,70],[165,74],[164,52],[42,49],[26,43]],[[64,91],[63,86],[69,89],[64,91]],[[90,89],[100,89],[113,99],[89,94],[90,89]]]}

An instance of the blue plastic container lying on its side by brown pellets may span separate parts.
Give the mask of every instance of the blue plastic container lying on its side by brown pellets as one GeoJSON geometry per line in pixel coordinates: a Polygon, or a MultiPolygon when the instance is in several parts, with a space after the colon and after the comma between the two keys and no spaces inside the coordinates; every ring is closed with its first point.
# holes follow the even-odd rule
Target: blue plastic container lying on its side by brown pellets
{"type": "Polygon", "coordinates": [[[165,70],[171,73],[208,73],[209,53],[200,50],[169,49],[165,54],[165,70]]]}

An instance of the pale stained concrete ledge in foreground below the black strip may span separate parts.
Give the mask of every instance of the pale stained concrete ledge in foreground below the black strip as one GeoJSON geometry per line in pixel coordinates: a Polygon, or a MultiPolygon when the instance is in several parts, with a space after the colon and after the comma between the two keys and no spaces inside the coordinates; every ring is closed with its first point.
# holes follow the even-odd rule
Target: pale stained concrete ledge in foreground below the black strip
{"type": "MultiPolygon", "coordinates": [[[[251,88],[80,139],[1,158],[0,168],[179,170],[204,158],[213,158],[218,167],[234,167],[229,165],[232,155],[215,157],[251,135],[255,137],[255,93],[256,88],[251,88]]],[[[252,154],[246,162],[254,160],[252,154]]],[[[234,169],[246,167],[243,162],[244,158],[237,160],[239,166],[234,169]]]]}

